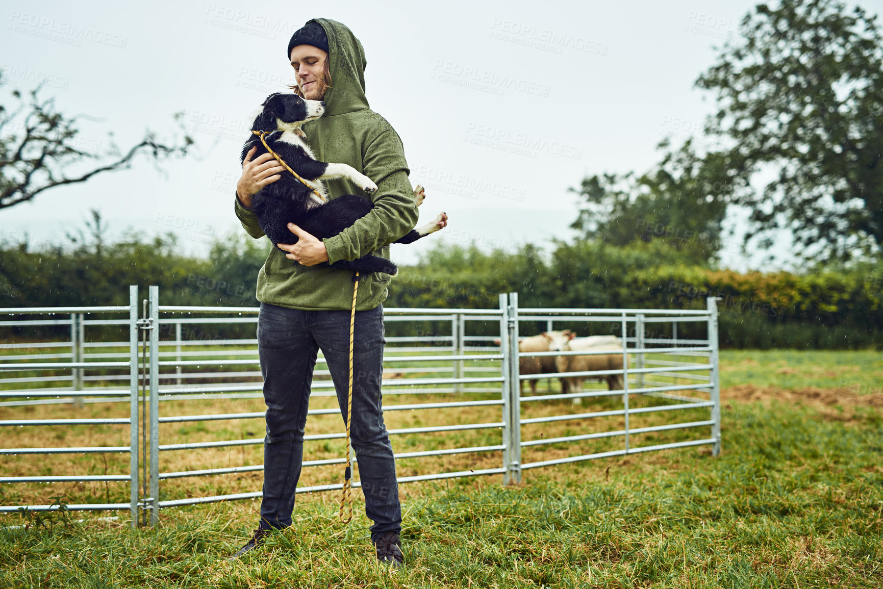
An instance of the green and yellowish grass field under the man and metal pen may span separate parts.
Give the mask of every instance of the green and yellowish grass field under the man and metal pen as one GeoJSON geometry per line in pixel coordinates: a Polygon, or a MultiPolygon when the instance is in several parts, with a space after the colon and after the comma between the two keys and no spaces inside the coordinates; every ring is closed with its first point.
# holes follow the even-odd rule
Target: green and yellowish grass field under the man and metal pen
{"type": "MultiPolygon", "coordinates": [[[[222,557],[247,538],[258,502],[167,510],[161,525],[137,532],[125,513],[115,521],[68,516],[84,517],[82,523],[55,513],[47,525],[31,521],[30,527],[3,517],[0,586],[883,585],[883,356],[724,351],[721,386],[720,457],[703,446],[525,471],[515,487],[502,487],[497,476],[403,485],[406,570],[374,564],[364,504],[357,503],[357,517],[344,526],[336,522],[336,495],[317,494],[298,495],[295,524],[237,563],[222,557]]],[[[197,412],[192,405],[177,409],[197,412]]],[[[536,411],[552,410],[586,411],[566,404],[536,411]]],[[[400,413],[389,419],[427,419],[400,413]]],[[[197,425],[176,424],[168,435],[208,435],[186,429],[197,425]]],[[[246,434],[240,425],[254,427],[228,423],[227,434],[246,434]]],[[[462,443],[493,439],[474,434],[462,443]]],[[[404,437],[393,443],[411,449],[404,437]]],[[[556,446],[544,451],[573,451],[556,446]]],[[[316,450],[332,457],[339,448],[329,443],[316,450]]],[[[260,464],[257,455],[242,459],[260,464]]],[[[458,463],[434,464],[446,465],[458,463]]],[[[254,474],[257,480],[245,480],[251,488],[260,483],[254,474]]],[[[313,482],[322,476],[317,471],[313,482]]],[[[224,490],[238,488],[234,482],[224,490]]],[[[4,503],[13,502],[13,487],[4,488],[4,503]]],[[[64,491],[78,493],[76,487],[64,491]]],[[[82,490],[102,500],[105,491],[82,490]]],[[[42,502],[50,502],[52,492],[43,491],[42,502]]]]}

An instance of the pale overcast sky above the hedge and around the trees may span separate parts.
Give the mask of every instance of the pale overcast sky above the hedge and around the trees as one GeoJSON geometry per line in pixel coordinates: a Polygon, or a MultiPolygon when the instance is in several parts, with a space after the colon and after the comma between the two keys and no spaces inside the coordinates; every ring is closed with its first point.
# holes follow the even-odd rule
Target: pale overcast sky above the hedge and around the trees
{"type": "MultiPolygon", "coordinates": [[[[0,209],[0,238],[63,240],[101,211],[111,233],[177,232],[192,253],[241,231],[233,215],[238,153],[267,94],[293,70],[291,34],[316,17],[350,26],[365,47],[372,109],[404,141],[411,182],[426,185],[421,222],[444,210],[434,242],[488,249],[572,238],[586,175],[643,172],[656,145],[698,134],[713,103],[693,88],[714,46],[756,2],[4,2],[0,68],[10,87],[42,81],[80,114],[80,147],[120,147],[146,129],[174,131],[185,113],[195,154],[42,193],[0,209]],[[321,6],[321,8],[319,8],[321,6]]],[[[879,13],[883,0],[858,4],[879,13]]],[[[8,94],[4,94],[8,103],[8,94]]],[[[736,218],[737,215],[731,215],[736,218]]],[[[772,268],[728,247],[732,268],[772,268]]]]}

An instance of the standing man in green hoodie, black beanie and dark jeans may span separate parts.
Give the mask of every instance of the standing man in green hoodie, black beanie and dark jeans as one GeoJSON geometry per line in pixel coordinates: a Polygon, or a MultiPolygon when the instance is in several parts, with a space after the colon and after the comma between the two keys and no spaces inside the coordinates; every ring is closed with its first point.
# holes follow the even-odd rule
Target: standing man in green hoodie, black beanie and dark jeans
{"type": "MultiPolygon", "coordinates": [[[[377,191],[370,196],[371,212],[333,238],[317,239],[290,225],[297,243],[273,247],[258,273],[258,351],[268,407],[263,497],[258,529],[231,559],[259,546],[271,530],[291,525],[313,366],[320,349],[346,420],[353,274],[321,262],[352,261],[372,252],[389,258],[389,244],[411,230],[419,217],[402,140],[386,119],[368,108],[365,50],[351,30],[334,20],[310,20],[292,35],[287,57],[295,68],[299,94],[325,101],[324,116],[303,126],[313,154],[322,162],[350,164],[374,180],[377,191]]],[[[235,208],[245,231],[260,238],[264,233],[250,210],[251,199],[283,169],[268,154],[254,161],[252,155],[243,164],[235,208]]],[[[345,178],[327,185],[332,199],[363,193],[345,178]]],[[[351,442],[366,515],[374,521],[371,540],[377,558],[398,567],[403,562],[402,515],[380,390],[386,342],[381,303],[390,278],[369,274],[358,286],[351,442]]]]}

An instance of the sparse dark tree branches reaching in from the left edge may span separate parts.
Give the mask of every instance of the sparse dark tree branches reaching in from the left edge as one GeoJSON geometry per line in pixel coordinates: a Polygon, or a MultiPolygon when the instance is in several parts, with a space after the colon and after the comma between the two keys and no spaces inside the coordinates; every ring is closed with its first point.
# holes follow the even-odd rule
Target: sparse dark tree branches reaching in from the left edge
{"type": "MultiPolygon", "coordinates": [[[[3,84],[0,72],[0,87],[3,84]]],[[[19,102],[17,107],[7,109],[0,104],[0,208],[31,200],[49,188],[85,182],[102,172],[130,168],[132,159],[140,153],[160,161],[184,156],[192,145],[187,135],[167,145],[156,140],[154,133],[146,132],[140,143],[125,154],[113,144],[106,154],[94,153],[89,146],[83,148],[78,143],[77,117],[64,117],[56,111],[53,99],[38,97],[39,91],[39,87],[31,91],[26,103],[19,90],[13,90],[12,97],[19,102]],[[92,170],[69,173],[87,160],[102,163],[92,170]]]]}

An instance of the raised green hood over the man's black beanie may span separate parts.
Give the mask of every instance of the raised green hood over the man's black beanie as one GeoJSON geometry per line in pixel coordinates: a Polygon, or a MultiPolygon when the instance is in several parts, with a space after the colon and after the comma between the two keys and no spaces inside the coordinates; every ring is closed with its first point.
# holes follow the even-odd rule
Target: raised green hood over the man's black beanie
{"type": "Polygon", "coordinates": [[[343,23],[331,19],[312,19],[328,35],[328,64],[331,87],[325,91],[323,118],[368,108],[365,96],[365,49],[343,23]]]}

